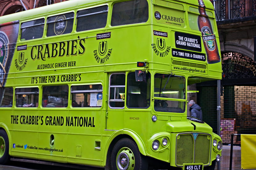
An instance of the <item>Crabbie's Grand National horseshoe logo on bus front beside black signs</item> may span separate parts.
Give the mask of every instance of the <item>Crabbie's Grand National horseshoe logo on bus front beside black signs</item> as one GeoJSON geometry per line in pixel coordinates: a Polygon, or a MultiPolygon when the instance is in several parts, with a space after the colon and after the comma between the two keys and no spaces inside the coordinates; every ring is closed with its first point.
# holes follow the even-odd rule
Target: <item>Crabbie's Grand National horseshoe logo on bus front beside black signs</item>
{"type": "MultiPolygon", "coordinates": [[[[153,34],[161,37],[168,37],[168,34],[166,32],[154,30],[153,34]]],[[[151,47],[155,54],[160,57],[167,56],[171,51],[171,46],[166,46],[164,38],[156,38],[156,44],[151,44],[151,47]]]]}

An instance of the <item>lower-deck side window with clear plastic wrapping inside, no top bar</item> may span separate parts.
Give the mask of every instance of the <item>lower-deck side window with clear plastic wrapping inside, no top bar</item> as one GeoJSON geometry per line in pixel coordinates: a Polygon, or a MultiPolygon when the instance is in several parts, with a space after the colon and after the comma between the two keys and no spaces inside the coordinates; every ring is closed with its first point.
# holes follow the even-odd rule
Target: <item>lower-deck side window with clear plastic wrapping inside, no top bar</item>
{"type": "Polygon", "coordinates": [[[43,107],[67,107],[68,85],[52,85],[43,87],[43,107]]]}

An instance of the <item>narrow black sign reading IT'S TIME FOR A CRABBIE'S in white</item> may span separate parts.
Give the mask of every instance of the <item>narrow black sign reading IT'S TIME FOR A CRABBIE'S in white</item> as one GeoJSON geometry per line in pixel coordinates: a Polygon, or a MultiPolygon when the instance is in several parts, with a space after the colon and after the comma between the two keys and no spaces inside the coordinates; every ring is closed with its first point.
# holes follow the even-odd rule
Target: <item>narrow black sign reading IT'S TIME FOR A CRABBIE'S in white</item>
{"type": "Polygon", "coordinates": [[[180,49],[171,49],[173,57],[187,58],[192,60],[206,61],[206,56],[203,53],[196,53],[180,49]]]}

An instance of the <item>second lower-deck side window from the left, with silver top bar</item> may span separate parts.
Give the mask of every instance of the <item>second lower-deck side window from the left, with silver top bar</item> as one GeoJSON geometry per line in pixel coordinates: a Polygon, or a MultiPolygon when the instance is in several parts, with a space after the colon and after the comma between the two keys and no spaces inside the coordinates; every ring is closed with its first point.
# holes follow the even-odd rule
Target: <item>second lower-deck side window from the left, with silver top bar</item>
{"type": "Polygon", "coordinates": [[[38,87],[15,89],[16,107],[38,107],[38,87]]]}

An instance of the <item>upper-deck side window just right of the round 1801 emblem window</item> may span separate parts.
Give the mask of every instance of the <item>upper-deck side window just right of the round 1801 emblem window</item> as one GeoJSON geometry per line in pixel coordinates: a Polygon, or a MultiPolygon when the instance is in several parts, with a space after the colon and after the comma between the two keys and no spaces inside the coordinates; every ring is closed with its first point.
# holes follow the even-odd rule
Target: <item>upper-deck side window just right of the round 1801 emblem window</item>
{"type": "Polygon", "coordinates": [[[97,6],[77,12],[76,31],[104,28],[107,24],[108,6],[97,6]]]}

